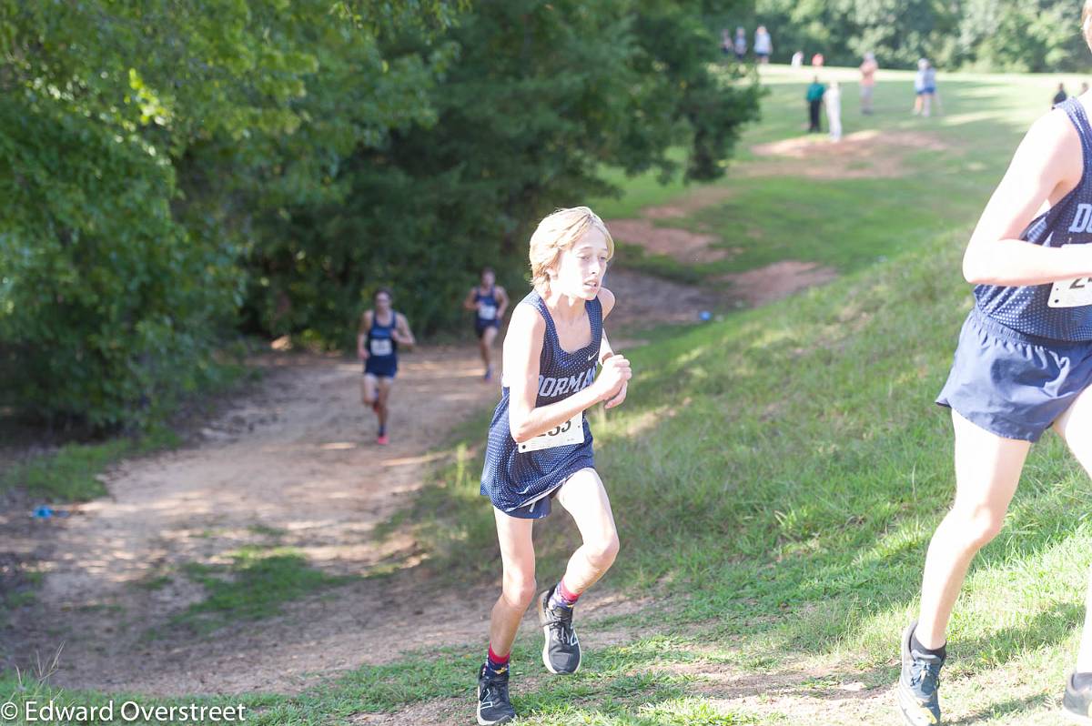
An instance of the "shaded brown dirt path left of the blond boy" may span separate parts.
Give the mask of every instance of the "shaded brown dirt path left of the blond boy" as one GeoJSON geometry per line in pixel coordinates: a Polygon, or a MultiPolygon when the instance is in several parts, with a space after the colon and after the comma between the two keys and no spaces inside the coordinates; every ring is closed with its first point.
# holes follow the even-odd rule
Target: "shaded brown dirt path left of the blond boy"
{"type": "Polygon", "coordinates": [[[410,503],[451,428],[498,396],[473,348],[404,356],[391,444],[380,448],[357,364],[268,362],[258,391],[204,429],[202,443],[123,464],[107,498],[49,524],[40,592],[0,633],[14,641],[0,647],[0,667],[33,663],[64,641],[54,678],[62,687],[285,692],[399,651],[480,638],[487,608],[452,612],[410,575],[355,579],[211,636],[165,627],[204,595],[181,569],[228,561],[241,546],[272,540],[331,574],[412,563],[412,538],[377,541],[373,527],[410,503]]]}

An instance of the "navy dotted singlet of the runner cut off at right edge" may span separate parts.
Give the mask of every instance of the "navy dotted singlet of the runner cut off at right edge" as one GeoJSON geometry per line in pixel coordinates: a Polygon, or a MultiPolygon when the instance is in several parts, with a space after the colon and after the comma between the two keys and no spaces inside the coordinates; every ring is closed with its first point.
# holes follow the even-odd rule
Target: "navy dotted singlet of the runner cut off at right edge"
{"type": "MultiPolygon", "coordinates": [[[[1081,138],[1084,175],[1071,192],[1036,217],[1020,235],[1020,239],[1042,245],[1087,245],[1092,242],[1092,127],[1084,107],[1077,98],[1058,104],[1069,116],[1081,138]]],[[[1088,278],[1073,285],[1092,285],[1088,278]]],[[[1092,306],[1073,308],[1051,307],[1054,285],[977,285],[975,306],[986,317],[1026,335],[1068,343],[1092,341],[1092,306]]]]}

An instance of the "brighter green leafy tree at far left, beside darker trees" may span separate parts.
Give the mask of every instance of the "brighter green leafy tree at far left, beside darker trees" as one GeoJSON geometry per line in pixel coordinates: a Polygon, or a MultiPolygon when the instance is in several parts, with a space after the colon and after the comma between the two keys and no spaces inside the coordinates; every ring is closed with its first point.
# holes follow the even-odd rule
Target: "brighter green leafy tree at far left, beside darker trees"
{"type": "Polygon", "coordinates": [[[271,192],[325,192],[312,182],[322,157],[290,156],[305,127],[347,150],[426,116],[397,93],[346,123],[311,123],[298,106],[324,41],[352,48],[339,60],[358,73],[428,73],[417,55],[383,58],[375,28],[442,24],[447,7],[377,7],[0,1],[4,400],[140,426],[213,370],[254,243],[240,191],[265,180],[271,192]]]}

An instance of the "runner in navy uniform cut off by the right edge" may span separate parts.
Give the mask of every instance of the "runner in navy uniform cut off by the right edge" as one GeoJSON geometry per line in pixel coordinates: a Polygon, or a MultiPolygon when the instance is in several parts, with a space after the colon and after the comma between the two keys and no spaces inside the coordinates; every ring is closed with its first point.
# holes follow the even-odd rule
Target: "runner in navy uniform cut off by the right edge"
{"type": "MultiPolygon", "coordinates": [[[[1083,22],[1092,47],[1092,0],[1083,22]]],[[[899,705],[912,726],[940,723],[948,620],[972,558],[1001,529],[1032,442],[1053,428],[1092,472],[1090,108],[1084,94],[1032,126],[963,258],[975,305],[937,398],[956,429],[956,501],[929,545],[919,618],[902,635],[899,705]]],[[[1092,724],[1090,706],[1087,615],[1064,707],[1092,724]]]]}

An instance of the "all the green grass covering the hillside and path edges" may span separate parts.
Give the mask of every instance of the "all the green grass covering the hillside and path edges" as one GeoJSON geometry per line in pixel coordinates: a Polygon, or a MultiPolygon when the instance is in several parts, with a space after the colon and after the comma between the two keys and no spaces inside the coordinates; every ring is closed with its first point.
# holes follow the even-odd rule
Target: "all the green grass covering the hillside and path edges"
{"type": "MultiPolygon", "coordinates": [[[[757,230],[741,255],[702,275],[792,257],[843,276],[723,322],[656,331],[654,345],[627,350],[629,400],[590,414],[622,543],[603,587],[653,599],[584,623],[585,643],[606,628],[621,634],[589,646],[572,678],[544,675],[536,634],[524,633],[513,657],[521,723],[894,723],[898,633],[952,496],[951,427],[933,398],[970,307],[960,255],[1056,83],[942,75],[946,115],[914,119],[907,79],[881,76],[868,123],[925,130],[949,153],[909,153],[893,180],[731,178],[723,183],[738,189],[724,205],[681,222],[712,226],[725,243],[735,229],[757,230]]],[[[744,148],[798,133],[802,79],[773,69],[767,80],[765,120],[744,148]]],[[[844,99],[852,132],[855,88],[844,99]]],[[[617,207],[626,214],[675,193],[632,183],[630,211],[617,207]]],[[[477,493],[484,419],[475,426],[412,516],[397,520],[418,522],[430,567],[463,582],[499,569],[491,510],[477,493]]],[[[943,699],[953,722],[1054,723],[1092,562],[1088,491],[1056,438],[1034,448],[1006,529],[976,559],[952,620],[943,699]]],[[[536,528],[537,578],[549,582],[577,532],[560,513],[536,528]]],[[[234,605],[262,590],[265,580],[240,584],[258,562],[230,567],[190,571],[207,579],[215,611],[271,611],[275,603],[234,605]]],[[[415,709],[471,723],[484,639],[483,630],[482,642],[359,668],[298,695],[244,697],[257,710],[248,723],[342,724],[403,710],[413,722],[415,709]]]]}

